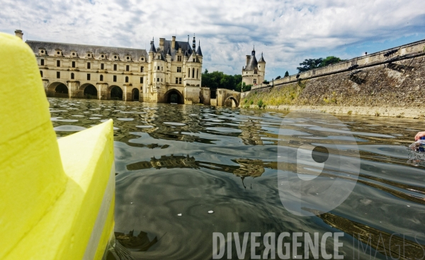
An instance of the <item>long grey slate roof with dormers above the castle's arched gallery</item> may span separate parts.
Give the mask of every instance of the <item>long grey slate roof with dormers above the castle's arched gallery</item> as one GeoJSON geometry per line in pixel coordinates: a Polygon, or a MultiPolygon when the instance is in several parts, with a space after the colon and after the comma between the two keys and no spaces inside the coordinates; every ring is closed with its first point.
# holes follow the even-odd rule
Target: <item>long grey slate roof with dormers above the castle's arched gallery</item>
{"type": "Polygon", "coordinates": [[[117,53],[120,59],[123,59],[125,55],[130,55],[132,60],[139,60],[140,57],[147,59],[147,52],[143,49],[132,49],[123,47],[108,47],[108,46],[97,46],[97,45],[82,45],[74,43],[52,43],[52,42],[39,42],[35,40],[27,40],[26,43],[31,47],[35,54],[38,54],[40,48],[45,48],[47,55],[55,55],[55,50],[62,50],[62,55],[69,56],[71,51],[76,51],[79,57],[84,57],[87,52],[93,53],[94,57],[98,55],[106,54],[106,57],[110,58],[113,53],[117,53]]]}

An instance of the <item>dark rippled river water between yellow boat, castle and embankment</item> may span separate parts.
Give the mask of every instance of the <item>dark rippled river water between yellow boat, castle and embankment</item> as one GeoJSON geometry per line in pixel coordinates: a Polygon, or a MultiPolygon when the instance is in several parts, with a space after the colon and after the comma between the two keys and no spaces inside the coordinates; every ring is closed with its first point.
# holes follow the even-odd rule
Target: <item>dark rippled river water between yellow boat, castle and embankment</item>
{"type": "MultiPolygon", "coordinates": [[[[244,232],[276,232],[276,240],[282,232],[344,232],[344,259],[424,259],[425,168],[407,162],[423,120],[336,115],[357,142],[358,180],[338,207],[302,217],[278,192],[278,134],[288,112],[48,100],[58,137],[114,120],[115,235],[135,259],[212,259],[213,232],[238,232],[241,242],[244,232]]],[[[344,144],[337,133],[329,138],[344,144]]],[[[325,244],[333,253],[334,242],[325,244]]],[[[256,254],[263,251],[261,243],[256,254]]],[[[231,254],[237,259],[234,244],[231,254]]]]}

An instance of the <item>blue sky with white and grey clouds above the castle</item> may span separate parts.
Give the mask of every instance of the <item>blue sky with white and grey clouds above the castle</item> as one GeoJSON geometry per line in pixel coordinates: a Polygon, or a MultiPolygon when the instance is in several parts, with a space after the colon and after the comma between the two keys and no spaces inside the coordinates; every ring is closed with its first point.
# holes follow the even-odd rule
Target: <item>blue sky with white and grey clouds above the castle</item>
{"type": "Polygon", "coordinates": [[[200,40],[203,69],[240,74],[255,45],[266,79],[307,58],[348,59],[425,39],[424,0],[0,0],[0,31],[24,40],[147,48],[200,40]]]}

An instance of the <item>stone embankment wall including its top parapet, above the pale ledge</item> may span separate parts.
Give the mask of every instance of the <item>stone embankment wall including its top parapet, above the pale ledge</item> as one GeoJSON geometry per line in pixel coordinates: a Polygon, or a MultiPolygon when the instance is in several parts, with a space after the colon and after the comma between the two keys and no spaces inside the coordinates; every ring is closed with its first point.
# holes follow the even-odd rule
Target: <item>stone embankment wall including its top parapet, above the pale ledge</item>
{"type": "Polygon", "coordinates": [[[315,109],[323,106],[327,107],[325,111],[329,107],[350,107],[351,110],[341,113],[356,111],[358,107],[367,112],[358,113],[369,115],[385,115],[385,111],[397,115],[393,108],[414,108],[423,111],[416,117],[424,116],[425,40],[390,50],[398,52],[385,57],[389,51],[385,50],[305,72],[298,79],[290,76],[268,86],[257,86],[242,94],[240,106],[262,105],[285,110],[294,106],[315,109]],[[353,64],[358,67],[348,71],[353,64]]]}

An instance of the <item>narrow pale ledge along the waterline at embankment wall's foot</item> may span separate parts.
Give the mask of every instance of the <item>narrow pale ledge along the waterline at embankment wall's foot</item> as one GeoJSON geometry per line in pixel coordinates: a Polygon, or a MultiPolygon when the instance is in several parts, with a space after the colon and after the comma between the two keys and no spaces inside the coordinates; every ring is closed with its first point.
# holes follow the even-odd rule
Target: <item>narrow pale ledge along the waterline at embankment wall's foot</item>
{"type": "MultiPolygon", "coordinates": [[[[259,108],[251,105],[249,108],[259,108]]],[[[371,115],[392,118],[425,119],[424,108],[402,108],[402,107],[376,107],[376,106],[266,106],[266,110],[296,111],[315,110],[323,113],[346,114],[346,115],[371,115]]]]}

